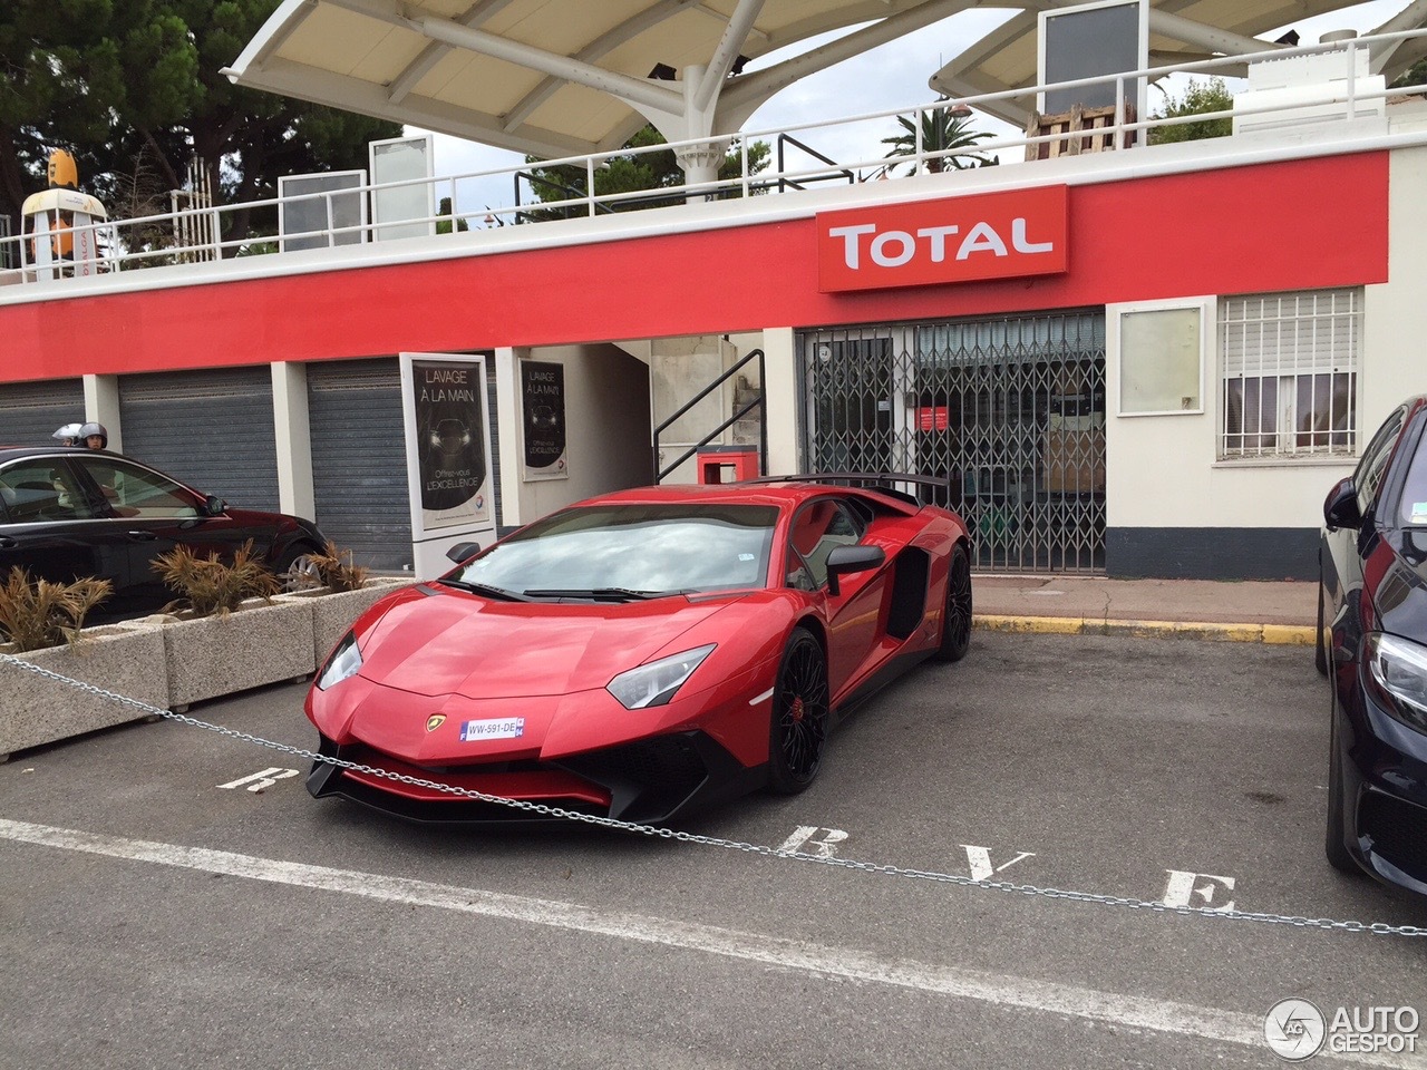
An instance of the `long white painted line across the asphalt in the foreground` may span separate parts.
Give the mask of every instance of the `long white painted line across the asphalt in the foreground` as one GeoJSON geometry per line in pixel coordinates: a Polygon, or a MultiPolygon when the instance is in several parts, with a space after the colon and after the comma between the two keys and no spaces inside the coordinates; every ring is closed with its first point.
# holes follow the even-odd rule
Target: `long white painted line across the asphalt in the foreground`
{"type": "MultiPolygon", "coordinates": [[[[641,943],[682,947],[729,959],[765,963],[789,970],[803,970],[852,980],[895,984],[903,989],[970,999],[997,1007],[1046,1012],[1090,1021],[1143,1029],[1202,1040],[1239,1044],[1267,1056],[1263,1016],[1244,1014],[1189,1003],[1122,996],[1080,989],[1070,984],[1006,977],[982,970],[936,966],[910,959],[883,959],[875,954],[828,947],[803,940],[785,940],[733,929],[674,922],[662,917],[598,910],[577,903],[512,896],[481,889],[435,885],[425,880],[361,873],[327,866],[308,866],[227,850],[184,847],[173,843],[131,840],[101,833],[56,829],[47,825],[0,819],[0,837],[64,850],[80,850],[133,862],[180,866],[204,873],[223,873],[275,885],[321,889],[411,906],[457,910],[461,913],[502,917],[512,922],[544,924],[582,933],[615,936],[641,943]]],[[[1323,1051],[1317,1059],[1366,1066],[1421,1066],[1411,1057],[1391,1053],[1374,1056],[1323,1051]]]]}

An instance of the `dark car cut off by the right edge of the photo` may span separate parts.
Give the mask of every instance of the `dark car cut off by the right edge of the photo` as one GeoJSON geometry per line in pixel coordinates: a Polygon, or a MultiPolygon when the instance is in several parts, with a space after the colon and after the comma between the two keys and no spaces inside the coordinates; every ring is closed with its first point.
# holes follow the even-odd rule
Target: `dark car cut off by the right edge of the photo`
{"type": "Polygon", "coordinates": [[[1323,518],[1329,862],[1427,893],[1427,397],[1387,418],[1323,518]]]}

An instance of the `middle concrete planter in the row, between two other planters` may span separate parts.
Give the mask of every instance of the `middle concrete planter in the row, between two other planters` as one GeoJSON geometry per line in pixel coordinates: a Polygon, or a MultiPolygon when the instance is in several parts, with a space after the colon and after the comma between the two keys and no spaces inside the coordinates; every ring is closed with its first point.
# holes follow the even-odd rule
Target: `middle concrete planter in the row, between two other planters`
{"type": "Polygon", "coordinates": [[[297,679],[313,672],[313,602],[244,603],[227,616],[158,626],[168,673],[168,709],[297,679]]]}

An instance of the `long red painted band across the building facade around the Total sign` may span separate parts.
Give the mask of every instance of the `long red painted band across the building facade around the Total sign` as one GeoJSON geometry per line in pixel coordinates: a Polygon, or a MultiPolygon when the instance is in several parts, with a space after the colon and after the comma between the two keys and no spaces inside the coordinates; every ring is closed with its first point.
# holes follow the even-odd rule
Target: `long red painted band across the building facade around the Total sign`
{"type": "Polygon", "coordinates": [[[906,290],[822,292],[806,218],[0,305],[0,381],[1364,285],[1387,280],[1387,184],[1366,153],[1076,185],[1065,272],[906,290]]]}

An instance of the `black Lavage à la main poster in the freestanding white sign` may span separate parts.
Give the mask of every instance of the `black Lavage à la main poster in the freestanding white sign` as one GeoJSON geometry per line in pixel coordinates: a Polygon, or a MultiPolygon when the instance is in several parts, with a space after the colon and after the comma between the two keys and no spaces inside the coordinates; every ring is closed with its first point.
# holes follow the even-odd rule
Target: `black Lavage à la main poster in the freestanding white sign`
{"type": "Polygon", "coordinates": [[[489,519],[484,395],[484,361],[411,361],[414,489],[421,495],[424,532],[489,519]]]}

